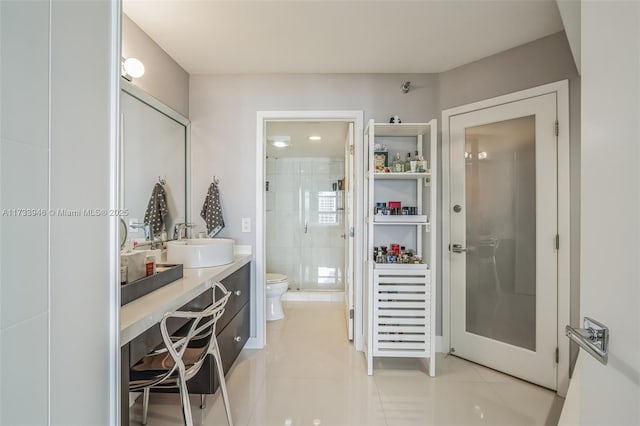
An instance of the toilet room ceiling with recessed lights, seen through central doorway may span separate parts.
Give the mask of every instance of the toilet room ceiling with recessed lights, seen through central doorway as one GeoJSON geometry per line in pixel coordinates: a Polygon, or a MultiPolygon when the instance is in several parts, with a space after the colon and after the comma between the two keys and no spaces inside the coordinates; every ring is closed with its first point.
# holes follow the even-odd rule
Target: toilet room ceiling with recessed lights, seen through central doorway
{"type": "Polygon", "coordinates": [[[343,159],[349,124],[344,121],[269,121],[267,122],[267,157],[322,157],[343,159]],[[310,141],[309,136],[321,136],[310,141]],[[290,138],[286,148],[275,148],[271,140],[290,138]]]}

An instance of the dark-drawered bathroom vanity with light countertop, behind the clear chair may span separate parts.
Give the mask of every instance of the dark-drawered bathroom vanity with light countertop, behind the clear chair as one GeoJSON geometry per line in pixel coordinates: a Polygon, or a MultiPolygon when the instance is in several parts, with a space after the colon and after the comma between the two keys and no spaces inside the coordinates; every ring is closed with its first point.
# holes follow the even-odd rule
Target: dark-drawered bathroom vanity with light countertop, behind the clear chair
{"type": "MultiPolygon", "coordinates": [[[[213,303],[212,283],[221,282],[232,296],[216,328],[223,370],[226,374],[250,333],[251,255],[236,254],[232,263],[212,268],[184,269],[183,278],[136,299],[120,309],[122,412],[121,424],[129,424],[129,368],[162,344],[159,322],[166,312],[201,310],[213,303]]],[[[185,322],[169,324],[171,332],[185,322]]],[[[209,356],[202,370],[188,383],[193,394],[212,394],[218,386],[215,362],[209,356]]]]}

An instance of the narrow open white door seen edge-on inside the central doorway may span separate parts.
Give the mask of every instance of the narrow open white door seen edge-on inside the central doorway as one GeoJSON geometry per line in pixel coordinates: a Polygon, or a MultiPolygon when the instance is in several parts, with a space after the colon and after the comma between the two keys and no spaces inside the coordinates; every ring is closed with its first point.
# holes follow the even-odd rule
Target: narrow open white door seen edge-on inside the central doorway
{"type": "Polygon", "coordinates": [[[353,282],[354,282],[354,268],[353,260],[355,258],[355,244],[354,244],[354,191],[353,185],[355,183],[355,167],[354,167],[354,145],[353,145],[353,123],[349,123],[349,130],[347,132],[347,143],[344,157],[344,176],[345,185],[344,188],[344,236],[345,252],[344,252],[344,266],[345,266],[345,282],[344,282],[344,302],[345,302],[345,319],[347,323],[347,336],[349,340],[353,340],[353,282]]]}

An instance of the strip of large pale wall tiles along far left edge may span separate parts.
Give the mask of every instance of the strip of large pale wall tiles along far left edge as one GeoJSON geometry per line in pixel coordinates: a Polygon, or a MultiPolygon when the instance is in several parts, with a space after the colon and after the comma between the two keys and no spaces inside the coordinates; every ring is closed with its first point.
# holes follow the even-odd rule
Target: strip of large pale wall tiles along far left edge
{"type": "MultiPolygon", "coordinates": [[[[49,14],[48,2],[0,2],[3,211],[48,207],[49,14]]],[[[46,216],[0,215],[3,425],[46,424],[49,418],[48,234],[46,216]]]]}

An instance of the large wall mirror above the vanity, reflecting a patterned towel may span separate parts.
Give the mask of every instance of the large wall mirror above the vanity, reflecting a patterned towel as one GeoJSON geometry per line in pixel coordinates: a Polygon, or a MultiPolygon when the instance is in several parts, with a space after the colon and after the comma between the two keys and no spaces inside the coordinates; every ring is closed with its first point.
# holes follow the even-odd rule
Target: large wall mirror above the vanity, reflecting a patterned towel
{"type": "Polygon", "coordinates": [[[128,238],[145,238],[145,212],[156,184],[166,199],[166,238],[177,223],[189,222],[189,120],[148,93],[122,80],[120,93],[120,205],[128,238]]]}

